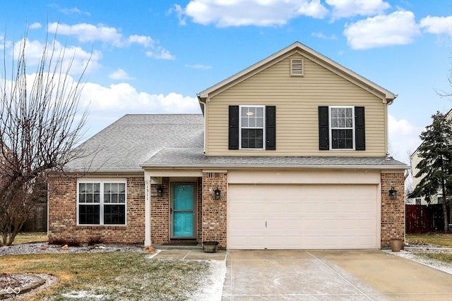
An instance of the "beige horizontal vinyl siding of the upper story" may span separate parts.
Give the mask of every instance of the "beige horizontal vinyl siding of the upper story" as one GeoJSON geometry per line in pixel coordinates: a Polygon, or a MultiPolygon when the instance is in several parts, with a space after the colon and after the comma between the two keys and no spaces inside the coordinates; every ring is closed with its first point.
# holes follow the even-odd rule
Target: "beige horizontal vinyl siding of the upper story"
{"type": "Polygon", "coordinates": [[[384,156],[386,104],[382,97],[304,58],[304,76],[290,76],[290,59],[220,92],[208,102],[206,154],[209,156],[384,156]],[[229,105],[275,105],[276,150],[229,150],[229,105]],[[319,151],[319,106],[365,106],[365,151],[319,151]]]}

